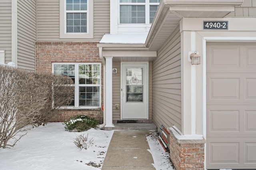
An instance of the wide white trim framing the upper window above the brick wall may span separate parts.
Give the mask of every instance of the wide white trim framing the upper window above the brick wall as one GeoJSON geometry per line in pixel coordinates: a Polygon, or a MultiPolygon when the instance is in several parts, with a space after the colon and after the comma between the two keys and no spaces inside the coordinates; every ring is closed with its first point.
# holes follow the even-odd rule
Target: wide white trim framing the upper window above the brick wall
{"type": "Polygon", "coordinates": [[[93,38],[93,0],[87,1],[87,33],[66,33],[66,0],[60,0],[60,38],[93,38]]]}

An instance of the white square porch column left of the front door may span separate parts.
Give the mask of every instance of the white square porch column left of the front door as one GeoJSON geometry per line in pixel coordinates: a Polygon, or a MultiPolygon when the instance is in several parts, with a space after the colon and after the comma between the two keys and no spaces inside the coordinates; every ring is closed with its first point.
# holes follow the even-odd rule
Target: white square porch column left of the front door
{"type": "Polygon", "coordinates": [[[106,58],[106,125],[105,127],[113,127],[112,125],[112,58],[106,58]]]}

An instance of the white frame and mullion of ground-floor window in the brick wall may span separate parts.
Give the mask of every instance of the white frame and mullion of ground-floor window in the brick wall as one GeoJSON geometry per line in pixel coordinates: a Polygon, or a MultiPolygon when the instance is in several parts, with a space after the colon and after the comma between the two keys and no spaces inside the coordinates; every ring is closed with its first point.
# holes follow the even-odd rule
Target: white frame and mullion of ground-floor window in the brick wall
{"type": "Polygon", "coordinates": [[[99,99],[99,106],[79,106],[79,69],[78,69],[78,65],[79,64],[98,64],[100,65],[100,75],[101,75],[101,63],[63,63],[63,62],[56,62],[56,63],[52,63],[52,73],[54,73],[54,65],[55,64],[74,64],[75,65],[75,84],[73,85],[75,87],[75,105],[74,106],[62,106],[59,107],[59,109],[98,109],[101,107],[101,77],[100,77],[100,84],[99,85],[91,85],[91,86],[99,86],[100,87],[100,99],[99,99]]]}

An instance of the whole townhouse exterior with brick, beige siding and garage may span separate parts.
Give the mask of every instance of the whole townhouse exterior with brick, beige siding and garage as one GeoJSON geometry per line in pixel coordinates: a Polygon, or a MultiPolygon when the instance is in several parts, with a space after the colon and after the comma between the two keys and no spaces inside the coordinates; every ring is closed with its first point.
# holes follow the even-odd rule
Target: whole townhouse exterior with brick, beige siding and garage
{"type": "Polygon", "coordinates": [[[72,77],[54,121],[150,119],[177,170],[256,169],[255,16],[256,0],[2,0],[0,62],[72,77]]]}

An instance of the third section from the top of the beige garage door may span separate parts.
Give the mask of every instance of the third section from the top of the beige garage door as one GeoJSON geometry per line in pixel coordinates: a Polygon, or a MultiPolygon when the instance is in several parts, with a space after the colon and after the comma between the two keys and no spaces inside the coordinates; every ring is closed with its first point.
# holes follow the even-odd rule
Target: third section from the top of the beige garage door
{"type": "Polygon", "coordinates": [[[208,105],[206,119],[209,137],[256,136],[256,106],[208,105]]]}

